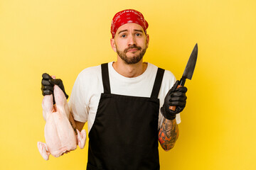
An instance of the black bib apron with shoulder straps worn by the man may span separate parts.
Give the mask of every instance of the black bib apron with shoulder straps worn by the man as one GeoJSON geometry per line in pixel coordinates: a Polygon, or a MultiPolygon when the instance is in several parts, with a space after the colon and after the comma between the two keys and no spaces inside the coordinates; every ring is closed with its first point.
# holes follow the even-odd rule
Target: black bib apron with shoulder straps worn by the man
{"type": "Polygon", "coordinates": [[[104,94],[89,132],[87,170],[159,169],[158,69],[151,97],[111,94],[108,64],[102,64],[104,94]]]}

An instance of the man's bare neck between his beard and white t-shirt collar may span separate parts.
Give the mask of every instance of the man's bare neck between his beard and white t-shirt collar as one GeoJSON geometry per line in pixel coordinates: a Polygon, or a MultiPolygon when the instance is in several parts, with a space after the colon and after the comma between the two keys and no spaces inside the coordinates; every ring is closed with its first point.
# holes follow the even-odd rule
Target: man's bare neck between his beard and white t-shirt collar
{"type": "Polygon", "coordinates": [[[141,60],[136,64],[126,64],[124,61],[117,59],[117,62],[113,62],[113,67],[122,76],[132,78],[143,74],[147,63],[141,60]]]}

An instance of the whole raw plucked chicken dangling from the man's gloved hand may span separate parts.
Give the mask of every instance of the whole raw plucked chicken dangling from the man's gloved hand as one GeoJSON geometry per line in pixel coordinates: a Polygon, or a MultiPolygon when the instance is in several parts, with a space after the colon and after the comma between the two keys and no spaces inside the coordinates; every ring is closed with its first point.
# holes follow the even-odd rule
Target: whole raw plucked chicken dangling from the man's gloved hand
{"type": "MultiPolygon", "coordinates": [[[[45,138],[46,143],[38,142],[38,150],[43,159],[48,160],[49,155],[60,157],[64,153],[75,150],[77,144],[80,149],[85,147],[86,132],[82,130],[75,135],[75,130],[68,118],[72,117],[68,108],[68,103],[63,91],[58,87],[53,87],[53,94],[43,97],[43,118],[46,120],[45,138]],[[53,94],[55,105],[53,106],[53,94]]],[[[73,120],[73,117],[72,117],[73,120]]]]}

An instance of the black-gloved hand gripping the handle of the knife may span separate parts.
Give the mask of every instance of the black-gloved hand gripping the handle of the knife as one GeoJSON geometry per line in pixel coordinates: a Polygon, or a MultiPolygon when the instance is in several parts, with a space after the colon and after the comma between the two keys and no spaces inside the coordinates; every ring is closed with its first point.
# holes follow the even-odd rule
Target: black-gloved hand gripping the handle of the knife
{"type": "Polygon", "coordinates": [[[186,91],[188,90],[185,86],[180,86],[177,89],[179,81],[177,80],[174,86],[169,90],[164,98],[164,105],[161,107],[161,113],[164,118],[168,120],[174,120],[176,114],[183,111],[186,106],[186,91]],[[176,106],[175,111],[169,109],[170,106],[176,106]]]}

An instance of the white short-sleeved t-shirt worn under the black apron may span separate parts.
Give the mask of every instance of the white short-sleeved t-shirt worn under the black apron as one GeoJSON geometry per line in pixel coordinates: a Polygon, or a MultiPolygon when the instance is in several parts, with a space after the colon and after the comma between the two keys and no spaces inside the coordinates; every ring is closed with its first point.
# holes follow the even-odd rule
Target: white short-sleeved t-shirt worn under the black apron
{"type": "MultiPolygon", "coordinates": [[[[113,62],[108,63],[110,75],[110,90],[112,94],[124,96],[150,97],[156,79],[158,67],[148,63],[146,71],[138,77],[124,77],[117,73],[113,62]]],[[[164,77],[159,91],[160,107],[164,104],[164,98],[169,89],[174,85],[176,79],[170,71],[164,72],[164,77]]],[[[88,67],[78,74],[70,95],[69,107],[75,120],[87,122],[88,130],[92,128],[100,102],[100,95],[104,92],[102,84],[101,66],[88,67]]],[[[159,109],[159,128],[163,121],[163,115],[159,109]]],[[[180,115],[176,115],[176,122],[181,123],[180,115]]]]}

